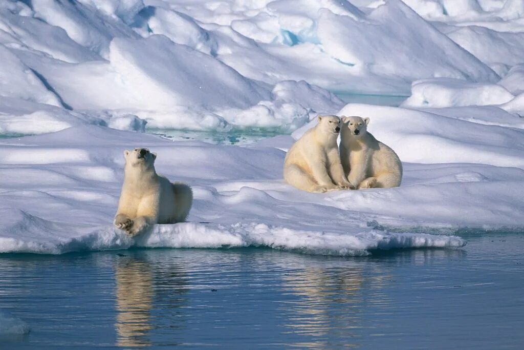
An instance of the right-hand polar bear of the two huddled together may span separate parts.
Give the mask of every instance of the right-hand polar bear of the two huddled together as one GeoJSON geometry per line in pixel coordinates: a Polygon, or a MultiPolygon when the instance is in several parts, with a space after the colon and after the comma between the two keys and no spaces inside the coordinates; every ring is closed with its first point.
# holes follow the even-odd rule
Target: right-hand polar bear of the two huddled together
{"type": "Polygon", "coordinates": [[[369,118],[342,117],[340,157],[347,180],[355,188],[400,186],[399,157],[367,132],[368,124],[369,118]]]}

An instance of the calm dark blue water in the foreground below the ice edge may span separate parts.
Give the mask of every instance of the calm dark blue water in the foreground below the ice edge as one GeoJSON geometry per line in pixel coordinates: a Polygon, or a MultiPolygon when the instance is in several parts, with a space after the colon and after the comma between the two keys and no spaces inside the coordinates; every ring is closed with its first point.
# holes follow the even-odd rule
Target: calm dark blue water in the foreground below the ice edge
{"type": "Polygon", "coordinates": [[[2,349],[522,349],[524,234],[370,257],[270,249],[0,254],[2,349]]]}

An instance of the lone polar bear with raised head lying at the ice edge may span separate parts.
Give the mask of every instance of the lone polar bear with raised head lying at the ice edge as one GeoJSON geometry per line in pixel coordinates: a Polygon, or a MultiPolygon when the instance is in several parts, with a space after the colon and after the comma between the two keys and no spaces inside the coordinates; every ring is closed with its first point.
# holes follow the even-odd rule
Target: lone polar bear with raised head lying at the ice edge
{"type": "Polygon", "coordinates": [[[171,183],[155,171],[157,155],[148,149],[124,151],[124,184],[114,224],[135,236],[153,224],[183,222],[193,203],[191,187],[171,183]]]}

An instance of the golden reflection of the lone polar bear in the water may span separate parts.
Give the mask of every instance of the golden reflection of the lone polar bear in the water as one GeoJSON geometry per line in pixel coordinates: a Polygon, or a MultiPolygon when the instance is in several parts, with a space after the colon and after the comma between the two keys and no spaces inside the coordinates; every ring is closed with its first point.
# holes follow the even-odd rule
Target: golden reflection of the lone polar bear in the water
{"type": "Polygon", "coordinates": [[[151,345],[152,274],[145,260],[122,259],[115,268],[118,346],[151,345]]]}

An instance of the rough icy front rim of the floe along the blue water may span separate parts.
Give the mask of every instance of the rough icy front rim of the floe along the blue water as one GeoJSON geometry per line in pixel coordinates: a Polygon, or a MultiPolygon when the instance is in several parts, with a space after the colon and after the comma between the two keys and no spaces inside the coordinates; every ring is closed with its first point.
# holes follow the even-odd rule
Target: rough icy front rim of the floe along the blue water
{"type": "MultiPolygon", "coordinates": [[[[104,227],[77,237],[54,240],[57,227],[45,220],[28,216],[18,223],[18,231],[10,232],[32,238],[0,237],[0,252],[31,252],[61,254],[71,251],[118,250],[130,247],[147,248],[242,248],[268,247],[309,254],[335,256],[368,255],[370,250],[399,248],[463,247],[459,237],[424,234],[397,234],[384,230],[362,232],[324,232],[272,227],[266,224],[232,225],[184,223],[155,225],[151,231],[130,238],[114,227],[104,227]],[[38,237],[36,235],[38,231],[38,237]]],[[[0,319],[1,321],[1,319],[0,319]]]]}

